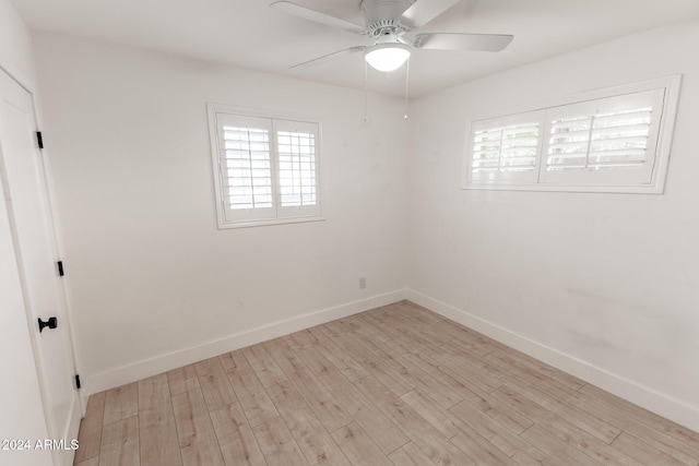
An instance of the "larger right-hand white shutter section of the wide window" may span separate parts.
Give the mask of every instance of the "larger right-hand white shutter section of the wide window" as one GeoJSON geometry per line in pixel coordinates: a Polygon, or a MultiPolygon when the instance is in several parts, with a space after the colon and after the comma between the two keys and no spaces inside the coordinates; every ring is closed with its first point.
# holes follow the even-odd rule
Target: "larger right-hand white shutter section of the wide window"
{"type": "Polygon", "coordinates": [[[650,183],[663,96],[649,91],[550,109],[541,182],[650,183]]]}

